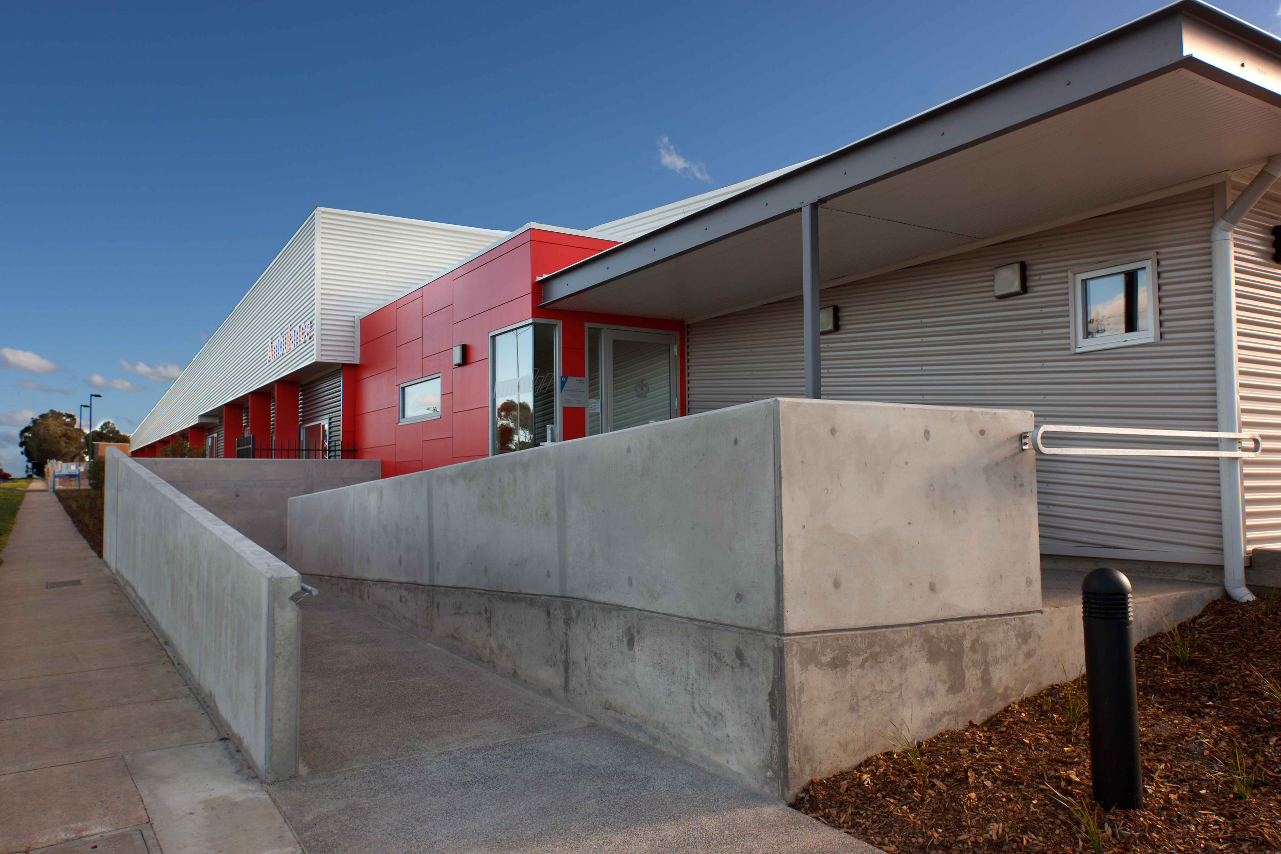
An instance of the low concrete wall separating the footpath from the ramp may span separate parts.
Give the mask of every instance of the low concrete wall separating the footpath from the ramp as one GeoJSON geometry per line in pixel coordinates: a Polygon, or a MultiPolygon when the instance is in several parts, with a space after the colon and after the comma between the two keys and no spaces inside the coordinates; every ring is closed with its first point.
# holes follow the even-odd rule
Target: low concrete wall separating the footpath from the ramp
{"type": "Polygon", "coordinates": [[[115,449],[104,494],[108,567],[259,776],[293,776],[298,573],[115,449]]]}

